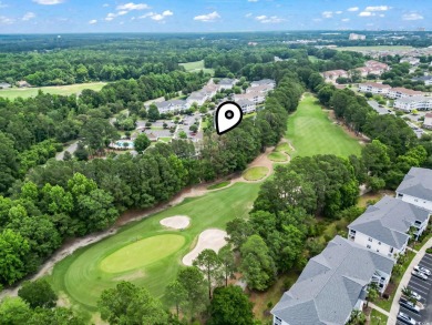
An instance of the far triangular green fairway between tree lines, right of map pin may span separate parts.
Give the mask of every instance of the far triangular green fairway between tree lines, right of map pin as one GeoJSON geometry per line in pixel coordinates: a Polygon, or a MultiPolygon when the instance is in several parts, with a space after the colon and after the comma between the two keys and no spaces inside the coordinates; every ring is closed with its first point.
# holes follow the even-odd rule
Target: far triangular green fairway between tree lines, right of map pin
{"type": "Polygon", "coordinates": [[[306,95],[297,111],[288,119],[286,138],[296,149],[291,153],[292,156],[359,155],[361,151],[359,141],[347,134],[341,126],[336,125],[316,101],[315,97],[306,95]]]}

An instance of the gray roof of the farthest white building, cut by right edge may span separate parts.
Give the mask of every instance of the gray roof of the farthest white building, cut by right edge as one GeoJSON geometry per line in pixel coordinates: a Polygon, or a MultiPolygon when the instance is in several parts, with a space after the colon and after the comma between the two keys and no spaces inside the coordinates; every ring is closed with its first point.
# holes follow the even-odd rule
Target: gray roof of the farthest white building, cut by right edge
{"type": "Polygon", "coordinates": [[[432,201],[432,170],[411,167],[397,192],[432,201]]]}

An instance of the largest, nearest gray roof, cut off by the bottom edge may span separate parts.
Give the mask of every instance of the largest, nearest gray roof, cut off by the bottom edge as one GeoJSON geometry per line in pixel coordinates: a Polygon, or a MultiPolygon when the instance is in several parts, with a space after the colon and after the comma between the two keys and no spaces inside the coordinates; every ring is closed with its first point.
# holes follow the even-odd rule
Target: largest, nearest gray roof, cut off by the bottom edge
{"type": "Polygon", "coordinates": [[[290,325],[344,324],[372,275],[394,261],[336,236],[306,265],[271,314],[290,325]]]}

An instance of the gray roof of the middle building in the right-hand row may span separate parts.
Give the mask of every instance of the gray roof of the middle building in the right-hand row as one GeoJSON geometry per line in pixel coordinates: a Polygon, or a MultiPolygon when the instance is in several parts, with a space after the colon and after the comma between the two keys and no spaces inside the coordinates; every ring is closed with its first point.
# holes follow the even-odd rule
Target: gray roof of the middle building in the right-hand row
{"type": "Polygon", "coordinates": [[[384,196],[348,227],[400,250],[409,238],[407,233],[411,225],[428,217],[429,212],[424,209],[384,196]]]}

